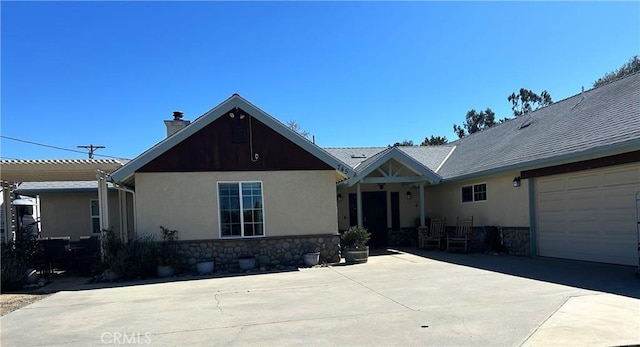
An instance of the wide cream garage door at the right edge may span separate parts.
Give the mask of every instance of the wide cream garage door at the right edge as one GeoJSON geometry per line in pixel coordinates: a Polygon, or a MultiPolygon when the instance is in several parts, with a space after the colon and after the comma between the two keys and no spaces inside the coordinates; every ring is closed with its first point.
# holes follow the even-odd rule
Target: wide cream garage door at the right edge
{"type": "Polygon", "coordinates": [[[640,164],[536,179],[538,254],[638,265],[640,164]]]}

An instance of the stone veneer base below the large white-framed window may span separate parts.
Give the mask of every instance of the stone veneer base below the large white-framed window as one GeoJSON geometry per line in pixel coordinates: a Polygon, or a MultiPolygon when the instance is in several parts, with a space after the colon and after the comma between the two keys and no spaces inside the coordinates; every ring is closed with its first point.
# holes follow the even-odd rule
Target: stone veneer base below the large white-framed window
{"type": "Polygon", "coordinates": [[[320,263],[340,262],[340,236],[305,235],[246,239],[178,241],[180,255],[190,269],[214,261],[216,269],[234,270],[243,255],[256,257],[256,267],[304,265],[303,254],[320,251],[320,263]]]}

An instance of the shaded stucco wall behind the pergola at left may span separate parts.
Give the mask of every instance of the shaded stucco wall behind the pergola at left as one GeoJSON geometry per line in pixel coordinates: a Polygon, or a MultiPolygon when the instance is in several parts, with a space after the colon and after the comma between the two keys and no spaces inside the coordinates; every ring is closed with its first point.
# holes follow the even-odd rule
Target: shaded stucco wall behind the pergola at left
{"type": "MultiPolygon", "coordinates": [[[[91,233],[91,200],[98,199],[95,193],[44,193],[40,195],[42,237],[80,236],[91,233]]],[[[120,232],[118,193],[109,192],[109,225],[120,232]]]]}

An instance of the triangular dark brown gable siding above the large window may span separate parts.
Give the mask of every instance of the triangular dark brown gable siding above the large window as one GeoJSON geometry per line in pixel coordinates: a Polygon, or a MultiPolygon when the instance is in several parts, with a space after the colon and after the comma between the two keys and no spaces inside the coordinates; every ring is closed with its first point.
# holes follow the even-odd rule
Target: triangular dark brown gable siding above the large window
{"type": "Polygon", "coordinates": [[[234,118],[224,114],[138,172],[333,170],[246,112],[230,112],[234,118]],[[240,112],[246,115],[243,119],[240,112]]]}

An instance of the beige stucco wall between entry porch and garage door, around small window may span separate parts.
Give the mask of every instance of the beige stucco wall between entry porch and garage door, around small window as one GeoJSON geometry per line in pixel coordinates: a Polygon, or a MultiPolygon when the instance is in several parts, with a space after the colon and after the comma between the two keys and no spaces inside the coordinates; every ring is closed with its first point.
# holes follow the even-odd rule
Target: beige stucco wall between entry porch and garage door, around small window
{"type": "Polygon", "coordinates": [[[428,187],[427,215],[447,217],[447,225],[455,225],[458,216],[473,216],[475,226],[528,227],[529,182],[522,180],[520,187],[515,188],[513,178],[517,176],[519,172],[512,172],[428,187]],[[463,203],[462,187],[482,183],[487,185],[487,200],[463,203]]]}

